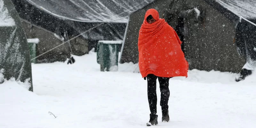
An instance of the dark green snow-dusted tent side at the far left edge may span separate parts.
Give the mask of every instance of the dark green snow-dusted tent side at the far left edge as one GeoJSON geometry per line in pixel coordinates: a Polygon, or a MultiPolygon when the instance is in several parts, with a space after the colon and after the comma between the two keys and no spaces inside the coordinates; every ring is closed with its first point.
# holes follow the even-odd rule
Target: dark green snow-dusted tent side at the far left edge
{"type": "Polygon", "coordinates": [[[10,0],[0,0],[0,33],[0,82],[14,78],[33,91],[27,38],[10,0]]]}

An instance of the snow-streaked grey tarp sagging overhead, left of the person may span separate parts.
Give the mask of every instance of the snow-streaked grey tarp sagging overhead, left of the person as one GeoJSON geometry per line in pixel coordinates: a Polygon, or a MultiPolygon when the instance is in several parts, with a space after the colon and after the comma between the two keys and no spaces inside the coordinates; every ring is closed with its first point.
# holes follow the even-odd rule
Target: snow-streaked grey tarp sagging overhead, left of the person
{"type": "Polygon", "coordinates": [[[128,16],[154,0],[26,0],[61,19],[79,22],[128,22],[128,16]]]}

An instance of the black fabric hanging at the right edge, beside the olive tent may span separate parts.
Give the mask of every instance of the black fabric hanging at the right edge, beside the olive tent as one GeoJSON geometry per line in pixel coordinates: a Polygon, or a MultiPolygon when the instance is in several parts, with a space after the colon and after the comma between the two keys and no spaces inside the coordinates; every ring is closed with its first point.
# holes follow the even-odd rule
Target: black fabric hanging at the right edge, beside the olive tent
{"type": "Polygon", "coordinates": [[[236,26],[235,43],[238,53],[256,67],[256,20],[251,21],[240,19],[236,26]]]}

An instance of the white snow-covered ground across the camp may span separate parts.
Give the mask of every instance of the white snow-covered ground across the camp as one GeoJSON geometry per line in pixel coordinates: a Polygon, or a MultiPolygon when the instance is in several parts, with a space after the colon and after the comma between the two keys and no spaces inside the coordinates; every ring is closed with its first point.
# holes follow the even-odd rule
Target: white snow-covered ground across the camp
{"type": "MultiPolygon", "coordinates": [[[[0,84],[0,128],[147,127],[147,82],[133,73],[136,65],[100,72],[95,52],[74,58],[72,65],[32,64],[34,92],[12,80],[0,84]]],[[[158,125],[151,127],[255,128],[256,75],[240,82],[235,76],[194,69],[188,78],[171,78],[171,121],[161,122],[157,88],[158,125]]]]}

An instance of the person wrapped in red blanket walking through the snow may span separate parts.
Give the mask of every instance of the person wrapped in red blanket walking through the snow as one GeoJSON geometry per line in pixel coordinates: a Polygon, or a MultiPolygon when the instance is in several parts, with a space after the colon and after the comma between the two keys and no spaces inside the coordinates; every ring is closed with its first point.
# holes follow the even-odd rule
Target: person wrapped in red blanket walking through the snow
{"type": "Polygon", "coordinates": [[[150,119],[147,126],[158,124],[156,79],[160,84],[162,122],[168,122],[169,79],[174,76],[188,77],[188,62],[181,50],[181,43],[175,30],[159,18],[155,9],[146,12],[139,31],[138,50],[140,73],[148,82],[150,119]]]}

